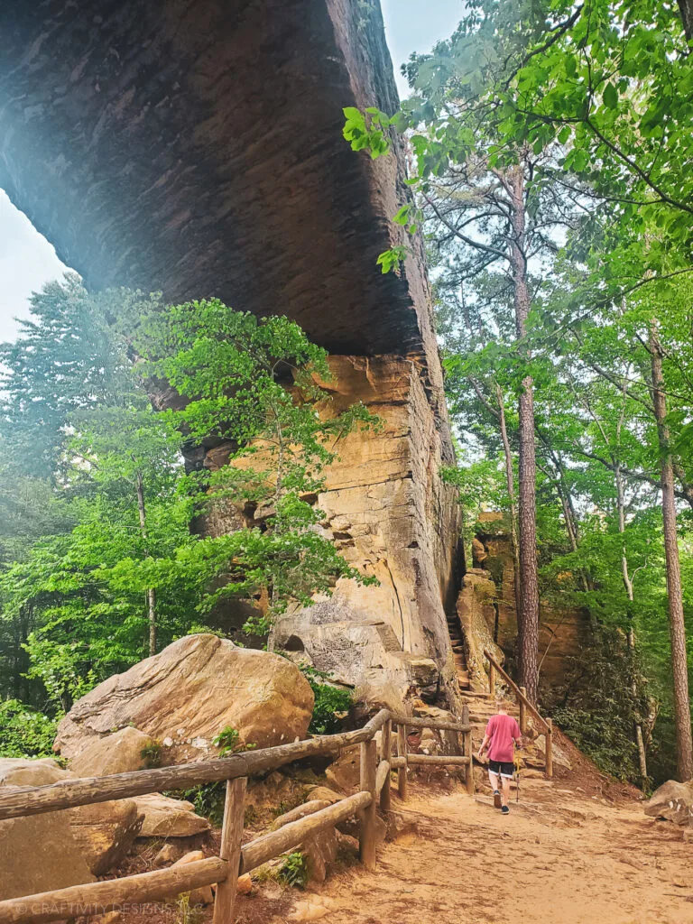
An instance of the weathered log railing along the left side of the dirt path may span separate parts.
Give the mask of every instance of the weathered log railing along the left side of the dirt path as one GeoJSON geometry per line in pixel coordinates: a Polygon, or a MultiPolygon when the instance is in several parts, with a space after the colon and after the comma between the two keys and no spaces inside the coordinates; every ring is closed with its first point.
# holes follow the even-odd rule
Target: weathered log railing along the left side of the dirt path
{"type": "Polygon", "coordinates": [[[219,760],[188,763],[158,770],[114,773],[110,776],[64,780],[45,786],[18,786],[0,790],[0,821],[39,815],[112,799],[142,796],[163,789],[226,781],[224,821],[219,857],[208,857],[181,867],[126,876],[122,879],[90,882],[54,892],[25,895],[0,901],[0,924],[43,924],[66,918],[102,915],[123,905],[155,902],[216,885],[213,924],[233,924],[237,879],[274,857],[294,849],[312,834],[334,827],[355,814],[360,817],[359,855],[372,869],[375,865],[376,810],[390,810],[390,773],[397,771],[400,798],[407,798],[407,771],[415,766],[463,766],[468,793],[474,792],[471,725],[465,706],[461,722],[436,722],[381,710],[363,728],[340,735],[295,741],[276,748],[263,748],[219,760]],[[393,726],[397,729],[397,755],[393,756],[393,726]],[[456,733],[461,755],[407,753],[407,727],[433,728],[456,733]],[[380,759],[375,735],[382,729],[380,759]],[[276,831],[243,844],[244,801],[248,777],[315,754],[332,754],[360,744],[359,792],[327,808],[291,821],[276,831]]]}

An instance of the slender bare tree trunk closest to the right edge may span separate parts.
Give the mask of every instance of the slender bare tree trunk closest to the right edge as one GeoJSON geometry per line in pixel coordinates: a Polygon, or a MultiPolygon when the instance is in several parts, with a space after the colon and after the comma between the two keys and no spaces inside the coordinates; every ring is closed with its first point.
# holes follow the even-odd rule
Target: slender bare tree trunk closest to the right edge
{"type": "Polygon", "coordinates": [[[655,322],[650,324],[650,354],[652,362],[652,399],[657,420],[662,466],[662,517],[664,527],[664,555],[666,558],[666,590],[669,597],[669,632],[672,644],[672,678],[674,682],[674,719],[676,729],[676,772],[682,782],[693,778],[693,737],[690,727],[688,700],[688,665],[686,652],[686,625],[681,592],[681,568],[678,560],[676,536],[676,500],[674,468],[669,445],[669,428],[666,424],[666,398],[664,396],[662,347],[655,322]]]}

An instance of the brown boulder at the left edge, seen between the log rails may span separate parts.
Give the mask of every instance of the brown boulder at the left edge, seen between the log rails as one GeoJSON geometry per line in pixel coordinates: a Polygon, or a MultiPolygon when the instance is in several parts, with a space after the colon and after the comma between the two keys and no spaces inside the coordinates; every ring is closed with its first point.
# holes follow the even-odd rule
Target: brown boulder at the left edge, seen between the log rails
{"type": "MultiPolygon", "coordinates": [[[[55,760],[0,760],[0,788],[73,778],[55,760]]],[[[0,895],[49,892],[93,881],[119,863],[140,832],[131,799],[0,821],[0,895]]]]}

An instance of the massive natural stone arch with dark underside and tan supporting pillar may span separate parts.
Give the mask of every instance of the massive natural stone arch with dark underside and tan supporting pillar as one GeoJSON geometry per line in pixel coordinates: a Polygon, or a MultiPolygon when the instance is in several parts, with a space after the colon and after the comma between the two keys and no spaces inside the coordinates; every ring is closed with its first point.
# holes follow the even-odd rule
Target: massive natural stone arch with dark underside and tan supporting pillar
{"type": "Polygon", "coordinates": [[[396,102],[378,0],[0,7],[0,187],[59,257],[95,288],[284,313],[333,354],[335,402],[385,420],[345,441],[320,498],[381,586],[341,586],[279,632],[393,704],[451,680],[458,586],[420,241],[402,274],[376,266],[401,241],[402,152],[372,162],[341,136],[344,106],[396,102]]]}

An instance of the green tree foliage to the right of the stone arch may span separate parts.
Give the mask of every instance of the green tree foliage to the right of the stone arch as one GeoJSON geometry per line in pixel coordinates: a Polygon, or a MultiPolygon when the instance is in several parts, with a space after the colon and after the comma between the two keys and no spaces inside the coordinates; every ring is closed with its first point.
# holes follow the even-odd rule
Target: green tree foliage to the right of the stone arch
{"type": "MultiPolygon", "coordinates": [[[[346,139],[373,157],[388,152],[393,129],[408,131],[414,200],[393,221],[414,232],[423,222],[426,232],[463,447],[444,478],[463,495],[467,540],[484,508],[512,522],[514,408],[531,380],[541,596],[559,611],[588,610],[614,663],[623,652],[611,633],[632,630],[641,659],[634,676],[605,664],[609,685],[595,683],[584,701],[571,689],[555,717],[603,768],[634,780],[634,718],[647,737],[656,716],[654,775],[671,775],[663,444],[673,455],[688,624],[692,602],[689,51],[675,4],[470,0],[448,41],[410,58],[412,97],[398,114],[374,125],[346,114],[346,139]],[[524,331],[516,250],[530,274],[524,331]],[[659,430],[652,330],[667,404],[659,430]]],[[[399,265],[393,254],[379,264],[399,265]]],[[[687,645],[693,653],[690,629],[687,645]]],[[[588,657],[602,664],[598,650],[580,663],[588,657]]]]}

